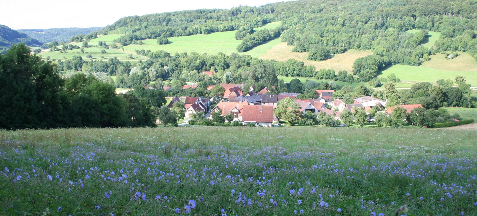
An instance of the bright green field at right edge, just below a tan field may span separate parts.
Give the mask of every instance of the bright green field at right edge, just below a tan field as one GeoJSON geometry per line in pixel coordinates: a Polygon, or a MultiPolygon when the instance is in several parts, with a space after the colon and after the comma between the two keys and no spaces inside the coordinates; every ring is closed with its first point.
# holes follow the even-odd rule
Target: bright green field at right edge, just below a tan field
{"type": "Polygon", "coordinates": [[[439,79],[454,80],[456,76],[462,75],[466,77],[467,84],[477,86],[477,71],[445,71],[423,66],[396,64],[382,71],[382,74],[378,77],[387,77],[390,73],[396,74],[396,77],[401,81],[409,82],[436,82],[439,79]]]}

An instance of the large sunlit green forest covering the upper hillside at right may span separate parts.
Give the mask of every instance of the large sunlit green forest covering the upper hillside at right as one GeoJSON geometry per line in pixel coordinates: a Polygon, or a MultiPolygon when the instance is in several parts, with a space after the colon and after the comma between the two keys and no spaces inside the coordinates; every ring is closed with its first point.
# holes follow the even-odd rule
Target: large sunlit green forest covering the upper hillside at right
{"type": "Polygon", "coordinates": [[[348,49],[372,50],[373,57],[358,59],[353,66],[353,73],[367,82],[385,65],[418,66],[436,52],[467,51],[477,59],[476,11],[477,4],[467,0],[299,0],[124,17],[95,33],[126,34],[117,40],[126,46],[142,39],[237,30],[236,38],[244,41],[238,51],[280,36],[295,45],[293,51],[309,51],[312,61],[348,49]],[[282,23],[272,34],[247,31],[271,21],[282,23]],[[421,31],[412,33],[411,29],[421,31]],[[427,31],[442,32],[433,49],[421,46],[427,41],[427,31]]]}

